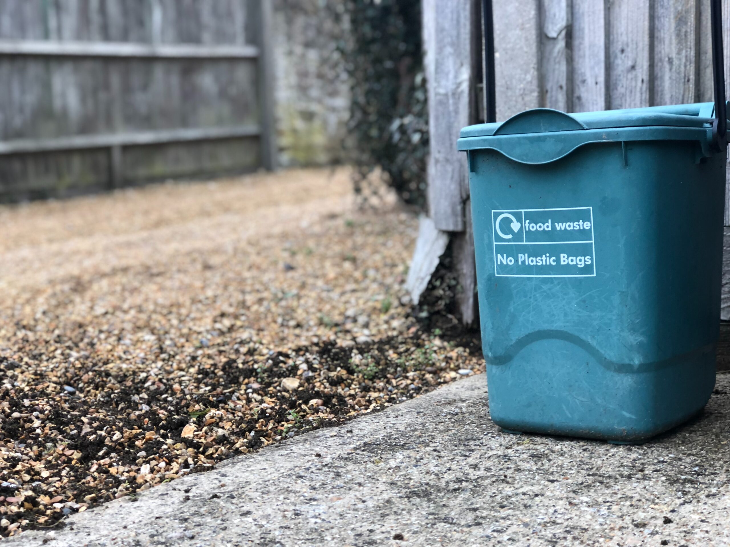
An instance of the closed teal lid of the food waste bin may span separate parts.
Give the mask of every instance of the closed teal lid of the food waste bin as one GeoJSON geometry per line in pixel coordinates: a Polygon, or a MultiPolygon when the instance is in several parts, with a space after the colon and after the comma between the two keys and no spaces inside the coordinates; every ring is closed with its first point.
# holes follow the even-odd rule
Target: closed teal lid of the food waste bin
{"type": "Polygon", "coordinates": [[[553,109],[520,112],[502,123],[461,130],[458,150],[493,149],[520,163],[549,163],[592,142],[690,140],[710,155],[713,103],[649,106],[566,114],[553,109]]]}

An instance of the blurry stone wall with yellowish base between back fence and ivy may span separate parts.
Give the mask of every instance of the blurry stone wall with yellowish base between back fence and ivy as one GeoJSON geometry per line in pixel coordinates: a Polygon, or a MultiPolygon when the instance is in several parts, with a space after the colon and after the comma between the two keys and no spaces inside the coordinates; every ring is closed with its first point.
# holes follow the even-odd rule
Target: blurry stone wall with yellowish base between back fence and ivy
{"type": "Polygon", "coordinates": [[[274,0],[274,87],[280,165],[342,160],[350,91],[327,0],[274,0]]]}

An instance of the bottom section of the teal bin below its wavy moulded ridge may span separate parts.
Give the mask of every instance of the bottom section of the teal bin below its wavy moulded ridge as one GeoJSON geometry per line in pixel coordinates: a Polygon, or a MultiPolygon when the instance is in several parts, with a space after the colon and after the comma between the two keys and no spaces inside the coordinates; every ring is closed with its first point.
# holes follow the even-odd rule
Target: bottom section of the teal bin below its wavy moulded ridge
{"type": "Polygon", "coordinates": [[[594,355],[546,338],[488,365],[493,422],[507,432],[640,444],[701,412],[715,387],[714,345],[631,371],[594,355]]]}

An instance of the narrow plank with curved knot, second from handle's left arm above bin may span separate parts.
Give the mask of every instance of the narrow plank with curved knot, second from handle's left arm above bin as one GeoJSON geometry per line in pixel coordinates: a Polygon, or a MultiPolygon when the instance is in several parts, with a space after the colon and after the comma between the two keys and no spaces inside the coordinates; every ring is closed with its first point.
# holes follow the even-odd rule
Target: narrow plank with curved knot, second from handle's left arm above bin
{"type": "Polygon", "coordinates": [[[540,106],[572,112],[572,1],[542,0],[541,4],[540,106]]]}

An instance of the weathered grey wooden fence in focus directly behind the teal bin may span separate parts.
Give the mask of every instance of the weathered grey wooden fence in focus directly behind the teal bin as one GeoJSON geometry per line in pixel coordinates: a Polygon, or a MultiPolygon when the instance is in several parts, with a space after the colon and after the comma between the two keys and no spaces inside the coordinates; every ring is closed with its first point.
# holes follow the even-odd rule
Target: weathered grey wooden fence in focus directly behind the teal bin
{"type": "MultiPolygon", "coordinates": [[[[466,322],[475,317],[475,271],[466,160],[456,139],[480,121],[480,4],[423,0],[430,217],[456,243],[466,322]]],[[[730,74],[730,0],[722,11],[730,74]]],[[[712,101],[707,0],[493,0],[493,21],[498,121],[541,106],[585,112],[712,101]]],[[[729,213],[726,205],[726,225],[729,213]]],[[[729,251],[726,228],[723,319],[730,319],[729,251]]]]}

